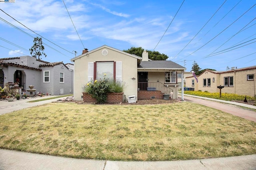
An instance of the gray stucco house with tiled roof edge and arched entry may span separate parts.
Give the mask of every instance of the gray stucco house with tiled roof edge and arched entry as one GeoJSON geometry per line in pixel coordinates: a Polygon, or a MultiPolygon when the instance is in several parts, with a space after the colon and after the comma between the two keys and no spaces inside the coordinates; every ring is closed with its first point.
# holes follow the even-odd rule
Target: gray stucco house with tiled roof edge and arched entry
{"type": "MultiPolygon", "coordinates": [[[[71,66],[72,67],[72,66],[71,66]]],[[[33,85],[35,93],[62,95],[73,93],[73,70],[63,62],[49,63],[35,57],[21,56],[0,59],[0,86],[19,82],[22,92],[33,85]]]]}

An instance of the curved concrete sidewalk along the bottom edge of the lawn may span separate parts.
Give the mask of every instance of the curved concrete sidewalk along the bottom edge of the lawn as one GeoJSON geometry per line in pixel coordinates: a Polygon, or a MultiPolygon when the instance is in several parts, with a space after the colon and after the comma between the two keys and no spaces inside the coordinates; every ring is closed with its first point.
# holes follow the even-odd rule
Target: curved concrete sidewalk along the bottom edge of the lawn
{"type": "Polygon", "coordinates": [[[0,149],[1,170],[255,170],[256,154],[197,160],[84,160],[0,149]]]}

